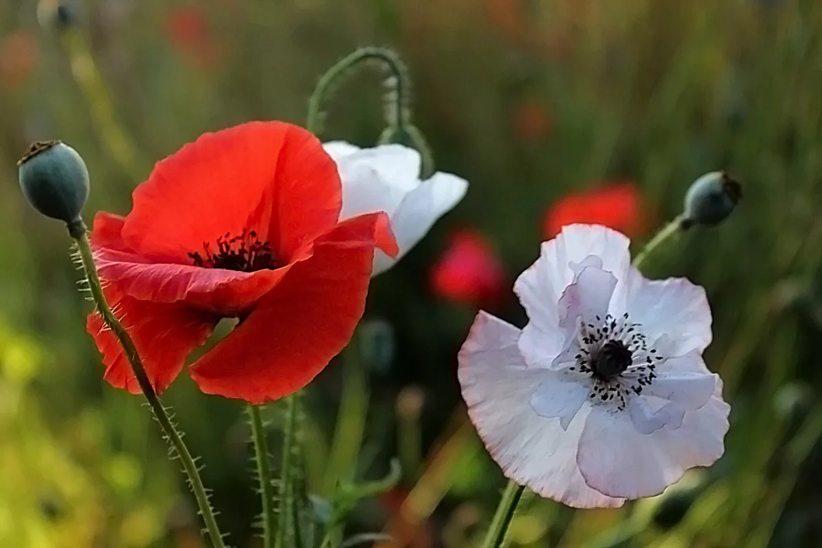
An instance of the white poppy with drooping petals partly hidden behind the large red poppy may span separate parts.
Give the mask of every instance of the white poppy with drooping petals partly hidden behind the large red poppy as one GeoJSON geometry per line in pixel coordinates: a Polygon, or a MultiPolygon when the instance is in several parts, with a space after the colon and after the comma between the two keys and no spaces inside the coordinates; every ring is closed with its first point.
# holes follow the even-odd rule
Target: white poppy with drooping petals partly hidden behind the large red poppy
{"type": "Polygon", "coordinates": [[[323,145],[337,163],[343,182],[340,220],[385,211],[399,253],[391,259],[380,250],[374,253],[372,276],[381,274],[417,245],[432,225],[446,214],[468,190],[468,182],[450,173],[419,178],[420,155],[403,145],[380,145],[360,149],[343,141],[323,145]]]}

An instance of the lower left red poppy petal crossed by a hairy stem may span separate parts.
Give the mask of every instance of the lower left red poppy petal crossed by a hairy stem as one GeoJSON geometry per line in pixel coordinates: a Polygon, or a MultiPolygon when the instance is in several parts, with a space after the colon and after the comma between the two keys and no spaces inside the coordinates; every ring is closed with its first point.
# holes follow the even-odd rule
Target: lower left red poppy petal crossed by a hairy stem
{"type": "MultiPolygon", "coordinates": [[[[145,372],[157,394],[168,388],[177,377],[188,354],[209,338],[219,318],[180,305],[138,301],[118,295],[111,288],[107,297],[131,335],[145,372]]],[[[103,319],[93,312],[86,329],[95,339],[106,366],[104,379],[114,388],[140,394],[140,385],[132,372],[118,338],[105,328],[103,319]]]]}

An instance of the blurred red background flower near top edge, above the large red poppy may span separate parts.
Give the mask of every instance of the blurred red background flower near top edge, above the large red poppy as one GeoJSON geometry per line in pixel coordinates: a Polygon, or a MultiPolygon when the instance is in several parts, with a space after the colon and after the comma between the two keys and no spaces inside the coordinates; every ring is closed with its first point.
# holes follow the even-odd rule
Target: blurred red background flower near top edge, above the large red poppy
{"type": "Polygon", "coordinates": [[[204,68],[219,64],[219,43],[200,7],[174,7],[165,21],[165,30],[183,56],[204,68]]]}

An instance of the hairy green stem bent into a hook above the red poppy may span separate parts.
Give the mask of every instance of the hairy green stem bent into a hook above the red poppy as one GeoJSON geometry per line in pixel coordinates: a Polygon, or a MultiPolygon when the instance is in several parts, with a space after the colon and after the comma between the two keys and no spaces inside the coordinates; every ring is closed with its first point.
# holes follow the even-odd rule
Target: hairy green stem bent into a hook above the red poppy
{"type": "Polygon", "coordinates": [[[322,104],[335,83],[362,62],[381,62],[391,73],[387,81],[389,92],[386,99],[386,124],[388,127],[406,127],[409,125],[411,96],[411,79],[405,63],[399,56],[387,48],[359,48],[342,58],[331,67],[317,82],[311,99],[308,100],[308,118],[306,128],[315,135],[322,131],[322,104]]]}

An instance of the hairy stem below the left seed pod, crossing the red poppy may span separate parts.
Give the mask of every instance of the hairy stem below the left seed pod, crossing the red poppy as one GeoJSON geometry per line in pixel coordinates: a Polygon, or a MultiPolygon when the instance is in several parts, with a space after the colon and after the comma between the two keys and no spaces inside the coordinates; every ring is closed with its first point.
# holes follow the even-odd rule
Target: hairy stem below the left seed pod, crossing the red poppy
{"type": "Polygon", "coordinates": [[[105,324],[108,325],[113,334],[117,336],[128,358],[128,362],[132,366],[132,371],[134,371],[137,383],[140,385],[140,389],[148,401],[151,411],[154,412],[155,419],[159,422],[159,426],[163,430],[166,440],[169,441],[174,453],[180,459],[180,463],[182,463],[183,472],[186,473],[189,486],[191,486],[194,498],[197,501],[197,506],[200,508],[200,514],[205,522],[205,530],[208,532],[211,545],[215,548],[225,548],[223,536],[219,532],[219,527],[217,527],[217,520],[209,504],[208,493],[203,486],[200,472],[197,470],[194,458],[192,458],[192,454],[189,453],[186,444],[183,443],[182,435],[180,435],[174,427],[163,404],[160,403],[159,398],[157,398],[155,389],[151,386],[149,377],[145,373],[145,367],[143,366],[140,356],[137,354],[137,349],[134,346],[131,336],[114,315],[109,303],[106,302],[103,288],[100,285],[99,276],[97,275],[97,269],[95,268],[95,260],[91,251],[85,223],[79,221],[70,224],[68,226],[68,232],[71,234],[76,243],[77,250],[80,252],[83,269],[85,270],[85,279],[88,280],[91,297],[95,302],[97,311],[99,315],[103,317],[105,324]]]}

